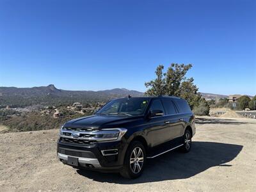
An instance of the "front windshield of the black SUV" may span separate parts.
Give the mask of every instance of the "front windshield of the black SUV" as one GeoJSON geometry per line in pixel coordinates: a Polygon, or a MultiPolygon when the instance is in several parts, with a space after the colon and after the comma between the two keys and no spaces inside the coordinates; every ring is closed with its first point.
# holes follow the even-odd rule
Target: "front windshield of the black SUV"
{"type": "Polygon", "coordinates": [[[101,108],[97,114],[100,115],[143,115],[148,106],[148,98],[122,98],[111,100],[101,108]]]}

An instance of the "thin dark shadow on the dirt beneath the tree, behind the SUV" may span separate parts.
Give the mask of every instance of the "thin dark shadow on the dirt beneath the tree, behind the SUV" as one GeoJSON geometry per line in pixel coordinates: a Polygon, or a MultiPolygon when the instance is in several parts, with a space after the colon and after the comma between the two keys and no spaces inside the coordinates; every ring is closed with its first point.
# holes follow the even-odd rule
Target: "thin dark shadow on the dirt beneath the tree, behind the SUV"
{"type": "Polygon", "coordinates": [[[196,118],[196,124],[241,125],[241,124],[250,124],[250,123],[241,122],[236,119],[226,119],[226,118],[196,118]]]}

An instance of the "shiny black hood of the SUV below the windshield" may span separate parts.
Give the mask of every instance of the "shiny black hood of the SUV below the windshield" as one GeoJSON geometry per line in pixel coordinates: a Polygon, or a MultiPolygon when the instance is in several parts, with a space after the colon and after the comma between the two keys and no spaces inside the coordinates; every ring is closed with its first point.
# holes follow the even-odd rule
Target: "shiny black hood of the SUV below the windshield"
{"type": "Polygon", "coordinates": [[[138,120],[139,118],[143,118],[143,116],[92,115],[70,120],[65,123],[64,127],[88,127],[91,129],[115,128],[122,127],[126,123],[132,122],[133,120],[138,120]]]}

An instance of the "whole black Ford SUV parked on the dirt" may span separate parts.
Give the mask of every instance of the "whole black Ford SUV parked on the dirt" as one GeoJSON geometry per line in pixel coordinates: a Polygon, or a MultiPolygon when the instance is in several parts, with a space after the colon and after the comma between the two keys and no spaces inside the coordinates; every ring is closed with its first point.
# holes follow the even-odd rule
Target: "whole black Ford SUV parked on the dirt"
{"type": "Polygon", "coordinates": [[[141,175],[146,159],[191,149],[195,116],[179,97],[127,97],[60,129],[58,158],[74,168],[141,175]]]}

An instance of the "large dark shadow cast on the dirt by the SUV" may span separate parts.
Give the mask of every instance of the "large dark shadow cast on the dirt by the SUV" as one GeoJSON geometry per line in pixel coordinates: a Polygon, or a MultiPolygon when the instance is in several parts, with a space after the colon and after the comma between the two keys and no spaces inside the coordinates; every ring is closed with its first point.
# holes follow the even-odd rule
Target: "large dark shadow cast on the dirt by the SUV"
{"type": "Polygon", "coordinates": [[[99,173],[91,170],[77,170],[77,173],[98,182],[116,184],[186,179],[212,166],[232,166],[227,163],[232,161],[242,148],[242,145],[193,141],[193,147],[187,154],[175,150],[154,159],[147,159],[145,170],[138,179],[124,179],[118,173],[99,173]]]}

